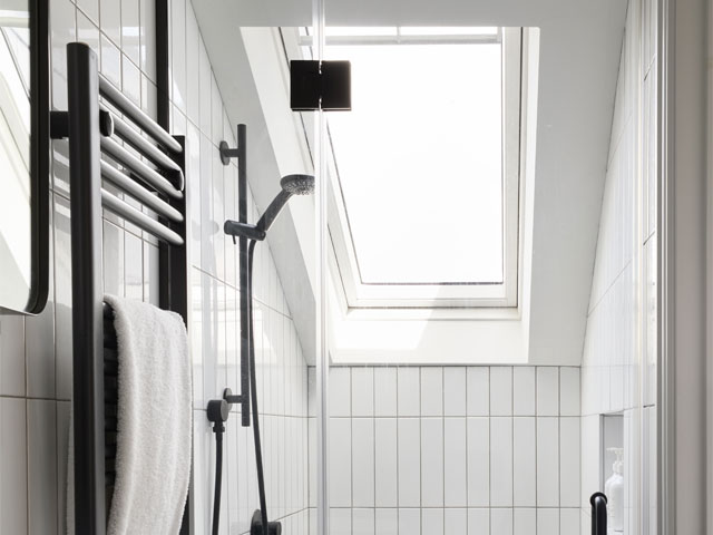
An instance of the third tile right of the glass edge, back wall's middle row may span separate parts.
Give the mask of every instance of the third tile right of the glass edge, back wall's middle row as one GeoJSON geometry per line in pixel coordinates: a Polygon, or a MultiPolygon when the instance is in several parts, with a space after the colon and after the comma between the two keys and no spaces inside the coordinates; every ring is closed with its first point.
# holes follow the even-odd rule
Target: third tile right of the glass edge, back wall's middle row
{"type": "Polygon", "coordinates": [[[377,507],[395,507],[398,505],[397,420],[377,418],[374,435],[375,505],[377,507]]]}

